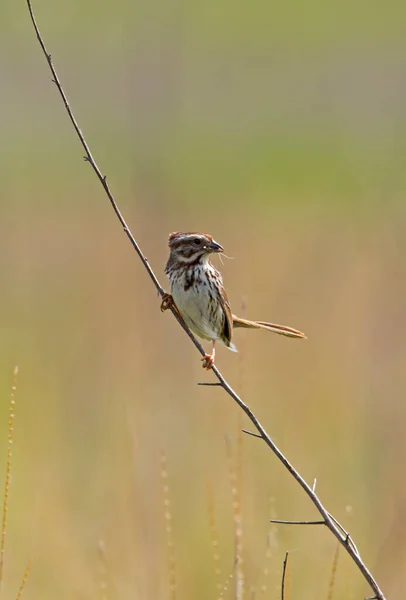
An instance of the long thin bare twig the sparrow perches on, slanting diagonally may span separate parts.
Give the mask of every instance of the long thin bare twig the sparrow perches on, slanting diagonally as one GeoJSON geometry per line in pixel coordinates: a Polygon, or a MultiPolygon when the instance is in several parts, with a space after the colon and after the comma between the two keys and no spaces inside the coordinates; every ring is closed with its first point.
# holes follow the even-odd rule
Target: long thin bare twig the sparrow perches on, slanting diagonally
{"type": "MultiPolygon", "coordinates": [[[[32,20],[32,24],[34,26],[37,38],[38,38],[38,42],[41,46],[41,49],[45,55],[45,58],[47,60],[48,63],[48,67],[52,73],[53,76],[53,82],[55,83],[56,87],[58,88],[58,91],[61,95],[62,101],[64,103],[65,109],[69,115],[70,121],[75,129],[75,132],[85,150],[85,160],[88,161],[92,167],[92,169],[94,170],[94,172],[96,173],[97,178],[99,179],[101,185],[103,186],[104,191],[107,194],[107,197],[110,201],[110,204],[118,218],[118,220],[120,221],[121,226],[124,229],[125,234],[127,235],[127,237],[129,238],[134,250],[136,251],[136,253],[138,254],[142,264],[144,265],[149,277],[151,278],[153,284],[155,285],[158,293],[162,296],[162,294],[164,293],[163,288],[161,287],[161,284],[159,283],[155,273],[153,272],[151,266],[149,265],[145,255],[143,254],[143,252],[141,251],[140,246],[138,245],[137,241],[135,240],[134,236],[132,235],[126,221],[124,220],[123,215],[121,214],[117,203],[114,199],[113,194],[110,191],[110,188],[107,184],[107,180],[106,180],[106,176],[102,175],[99,167],[96,164],[96,161],[93,158],[92,153],[90,152],[90,148],[83,136],[83,133],[73,115],[73,112],[70,108],[67,96],[62,88],[61,82],[59,80],[59,77],[56,73],[55,67],[53,65],[52,62],[52,58],[51,55],[49,54],[49,52],[46,49],[46,46],[44,44],[44,41],[41,37],[41,34],[39,32],[38,29],[38,25],[36,23],[35,17],[34,17],[34,13],[32,10],[32,6],[31,6],[31,1],[27,0],[27,6],[28,6],[28,10],[30,12],[30,16],[31,16],[31,20],[32,20]]],[[[203,349],[203,347],[201,346],[201,344],[197,341],[197,339],[194,337],[194,335],[191,333],[191,331],[187,328],[187,326],[185,325],[185,323],[183,322],[183,320],[181,319],[181,317],[178,315],[178,313],[176,312],[175,308],[173,306],[169,306],[169,309],[171,310],[173,316],[175,317],[175,319],[178,321],[179,325],[183,328],[183,330],[186,332],[186,334],[189,336],[189,338],[191,339],[191,341],[193,342],[193,344],[196,346],[196,348],[198,349],[198,351],[200,352],[200,354],[202,356],[205,355],[205,351],[203,349]]],[[[359,556],[358,552],[355,550],[354,546],[352,543],[348,543],[349,542],[349,537],[347,535],[345,535],[342,531],[341,526],[337,525],[337,522],[335,521],[335,519],[333,519],[331,517],[331,515],[329,514],[329,512],[325,509],[325,507],[323,506],[323,504],[321,503],[320,499],[318,498],[318,496],[316,495],[315,491],[312,489],[311,486],[309,486],[309,484],[303,479],[303,477],[299,474],[299,472],[293,467],[293,465],[288,461],[288,459],[284,456],[284,454],[281,452],[281,450],[279,450],[279,448],[277,447],[277,445],[273,442],[273,440],[271,439],[271,437],[268,435],[268,433],[265,431],[264,427],[261,425],[261,423],[259,422],[259,420],[257,419],[257,417],[255,416],[255,414],[252,412],[252,410],[247,406],[247,404],[245,404],[245,402],[243,402],[243,400],[240,398],[240,396],[233,390],[233,388],[230,386],[230,384],[225,380],[225,378],[223,377],[223,375],[221,374],[221,372],[218,370],[218,368],[216,366],[213,366],[212,368],[212,372],[214,374],[214,376],[217,378],[218,382],[220,383],[221,387],[227,392],[227,394],[229,394],[229,396],[238,404],[238,406],[241,408],[241,410],[243,410],[245,412],[245,414],[247,415],[247,417],[250,419],[250,421],[253,423],[254,427],[257,429],[258,433],[259,433],[259,437],[261,437],[264,442],[267,444],[267,446],[272,450],[272,452],[277,456],[277,458],[280,460],[280,462],[283,464],[283,466],[287,469],[287,471],[291,474],[291,476],[297,481],[297,483],[300,485],[300,487],[304,490],[304,492],[307,494],[307,496],[310,498],[310,500],[312,501],[312,503],[314,504],[314,506],[316,507],[316,509],[318,510],[318,512],[320,513],[320,515],[323,517],[323,522],[325,523],[326,527],[328,527],[328,529],[332,532],[332,534],[339,540],[340,544],[346,549],[346,551],[348,552],[348,554],[350,555],[350,557],[352,558],[353,562],[356,564],[356,566],[358,567],[359,571],[362,573],[362,575],[364,576],[365,580],[368,582],[368,584],[370,585],[371,589],[373,590],[375,597],[378,600],[385,600],[385,596],[382,592],[382,590],[380,589],[380,587],[378,586],[377,582],[375,581],[374,577],[372,576],[372,573],[368,570],[368,568],[366,567],[365,563],[362,561],[361,557],[359,556]]]]}

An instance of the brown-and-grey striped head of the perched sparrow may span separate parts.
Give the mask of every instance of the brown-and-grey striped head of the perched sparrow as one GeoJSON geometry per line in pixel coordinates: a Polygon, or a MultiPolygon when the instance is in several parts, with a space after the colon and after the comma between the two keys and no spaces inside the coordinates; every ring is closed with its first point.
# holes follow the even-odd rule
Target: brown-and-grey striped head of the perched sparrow
{"type": "Polygon", "coordinates": [[[168,245],[170,258],[183,264],[204,262],[213,252],[223,252],[208,233],[177,231],[169,236],[168,245]]]}

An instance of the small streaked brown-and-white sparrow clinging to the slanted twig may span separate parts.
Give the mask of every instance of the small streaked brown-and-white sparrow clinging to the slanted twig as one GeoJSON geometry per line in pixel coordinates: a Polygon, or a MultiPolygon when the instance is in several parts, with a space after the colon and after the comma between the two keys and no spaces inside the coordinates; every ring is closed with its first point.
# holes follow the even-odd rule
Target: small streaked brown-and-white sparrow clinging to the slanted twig
{"type": "Polygon", "coordinates": [[[223,247],[207,233],[171,233],[170,254],[165,273],[171,282],[171,294],[162,297],[161,310],[174,304],[187,326],[199,337],[213,344],[211,354],[202,359],[203,367],[214,364],[215,345],[219,340],[236,352],[231,342],[234,327],[265,329],[294,338],[305,338],[297,329],[265,321],[248,321],[233,315],[221,274],[210,263],[210,254],[223,247]]]}

